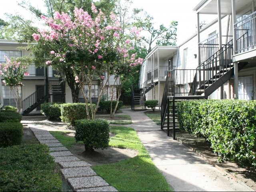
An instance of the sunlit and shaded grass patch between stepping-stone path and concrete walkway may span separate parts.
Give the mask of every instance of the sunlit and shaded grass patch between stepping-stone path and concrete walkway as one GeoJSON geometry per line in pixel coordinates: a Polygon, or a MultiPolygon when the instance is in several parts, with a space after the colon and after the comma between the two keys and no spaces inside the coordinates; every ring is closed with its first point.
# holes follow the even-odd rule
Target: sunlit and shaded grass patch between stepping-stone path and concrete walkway
{"type": "Polygon", "coordinates": [[[172,191],[164,176],[152,162],[133,128],[112,126],[109,145],[138,151],[138,156],[92,169],[119,191],[172,191]]]}

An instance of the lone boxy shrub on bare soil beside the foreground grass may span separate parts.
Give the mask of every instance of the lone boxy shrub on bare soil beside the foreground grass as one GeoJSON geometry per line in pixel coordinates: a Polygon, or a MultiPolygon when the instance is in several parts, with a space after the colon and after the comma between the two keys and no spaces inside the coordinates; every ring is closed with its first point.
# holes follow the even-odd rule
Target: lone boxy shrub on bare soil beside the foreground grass
{"type": "Polygon", "coordinates": [[[76,142],[84,142],[85,150],[105,149],[109,142],[109,124],[107,120],[77,120],[75,123],[76,142]]]}

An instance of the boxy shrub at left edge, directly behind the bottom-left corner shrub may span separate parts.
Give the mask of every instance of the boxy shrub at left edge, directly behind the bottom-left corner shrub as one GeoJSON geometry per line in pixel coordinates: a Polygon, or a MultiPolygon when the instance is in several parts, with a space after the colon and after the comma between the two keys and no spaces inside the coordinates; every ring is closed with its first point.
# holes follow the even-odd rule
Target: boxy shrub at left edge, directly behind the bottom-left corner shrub
{"type": "Polygon", "coordinates": [[[20,122],[0,123],[0,147],[18,145],[22,141],[23,126],[20,122]]]}

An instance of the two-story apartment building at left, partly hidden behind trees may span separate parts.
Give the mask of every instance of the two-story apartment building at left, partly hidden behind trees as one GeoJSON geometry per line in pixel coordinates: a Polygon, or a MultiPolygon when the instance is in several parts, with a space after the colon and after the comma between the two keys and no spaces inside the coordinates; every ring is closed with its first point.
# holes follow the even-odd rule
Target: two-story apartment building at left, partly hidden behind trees
{"type": "MultiPolygon", "coordinates": [[[[12,40],[0,40],[0,63],[6,62],[4,56],[8,58],[18,58],[28,56],[29,52],[20,50],[18,47],[26,46],[25,43],[19,44],[12,40]]],[[[20,87],[22,98],[22,114],[40,113],[40,104],[42,102],[62,102],[72,103],[72,94],[68,84],[55,76],[56,71],[51,66],[38,68],[34,64],[28,68],[29,76],[25,76],[20,87]]],[[[2,102],[1,105],[16,106],[14,95],[9,86],[2,83],[2,102]]],[[[114,78],[111,76],[107,86],[104,89],[108,99],[112,97],[112,86],[114,86],[114,100],[116,99],[116,86],[114,78]]],[[[100,81],[94,80],[92,85],[92,101],[96,102],[99,96],[100,81]]],[[[88,86],[84,86],[84,92],[88,92],[88,86]]],[[[1,99],[1,98],[0,98],[1,99]]],[[[79,94],[79,101],[84,102],[82,93],[79,94]]]]}

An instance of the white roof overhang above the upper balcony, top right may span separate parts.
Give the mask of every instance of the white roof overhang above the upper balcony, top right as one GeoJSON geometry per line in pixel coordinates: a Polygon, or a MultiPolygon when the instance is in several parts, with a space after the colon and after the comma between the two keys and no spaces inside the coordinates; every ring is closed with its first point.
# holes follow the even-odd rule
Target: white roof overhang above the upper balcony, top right
{"type": "MultiPolygon", "coordinates": [[[[222,15],[232,14],[232,0],[220,0],[222,15]]],[[[236,11],[251,4],[252,0],[235,0],[236,11]]],[[[199,14],[218,14],[217,0],[202,0],[194,9],[199,14]]]]}

